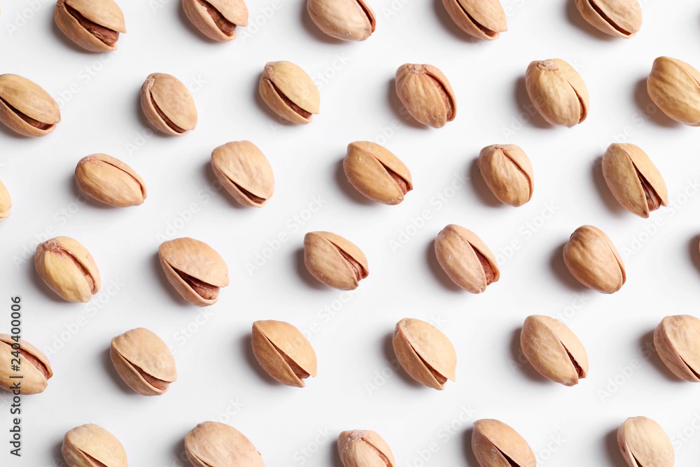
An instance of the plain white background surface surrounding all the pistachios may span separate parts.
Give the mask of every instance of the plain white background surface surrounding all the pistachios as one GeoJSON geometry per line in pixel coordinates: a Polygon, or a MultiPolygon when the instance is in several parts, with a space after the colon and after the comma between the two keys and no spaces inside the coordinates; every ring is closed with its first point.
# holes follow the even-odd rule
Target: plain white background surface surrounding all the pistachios
{"type": "Polygon", "coordinates": [[[62,102],[63,120],[40,139],[0,128],[0,179],[14,203],[0,223],[0,330],[9,329],[10,296],[21,295],[23,337],[49,354],[55,372],[44,393],[22,399],[21,460],[8,454],[10,398],[0,395],[0,465],[63,465],[64,433],[94,422],[123,442],[132,466],[180,466],[185,433],[219,419],[245,433],[268,466],[339,467],[335,438],[351,428],[379,432],[402,467],[476,466],[472,421],[497,418],[528,440],[540,466],[622,467],[615,431],[641,414],[673,438],[678,466],[696,465],[699,386],[663,367],[652,331],[666,314],[697,314],[700,130],[675,125],[645,90],[659,55],[700,66],[695,2],[644,1],[641,32],[624,40],[589,27],[573,1],[504,0],[509,31],[486,43],[462,34],[440,1],[375,0],[377,32],[337,43],[310,22],[304,2],[255,0],[251,25],[260,26],[221,44],[193,29],[179,1],[120,3],[128,34],[109,54],[69,43],[50,1],[2,5],[0,72],[43,86],[62,102]],[[573,129],[528,113],[524,71],[552,57],[577,67],[589,87],[589,118],[573,129]],[[295,62],[318,82],[321,114],[311,125],[279,125],[258,97],[260,72],[274,60],[295,62]],[[454,122],[433,130],[405,118],[393,76],[406,62],[433,64],[449,78],[454,122]],[[141,114],[141,84],[157,71],[193,88],[200,120],[185,137],[153,134],[141,114]],[[262,209],[212,190],[211,150],[240,139],[274,169],[275,194],[262,209]],[[409,167],[415,189],[405,202],[373,204],[346,183],[341,160],[359,139],[384,144],[409,167]],[[644,220],[615,203],[599,170],[615,139],[650,155],[672,207],[644,220]],[[479,150],[496,143],[519,144],[532,160],[535,193],[524,207],[499,205],[475,169],[479,150]],[[139,172],[146,202],[84,202],[73,170],[91,153],[139,172]],[[314,200],[321,207],[311,214],[314,200]],[[437,265],[433,239],[449,223],[499,256],[501,279],[486,293],[456,290],[437,265]],[[614,295],[580,287],[561,260],[570,233],[586,223],[608,233],[624,258],[628,281],[614,295]],[[304,270],[311,230],[337,232],[365,251],[370,275],[355,293],[320,286],[304,270]],[[57,235],[78,239],[99,265],[103,289],[90,304],[62,302],[34,271],[38,239],[57,235]],[[271,255],[265,249],[280,235],[286,241],[271,255]],[[211,244],[228,263],[231,285],[212,307],[183,302],[162,274],[158,245],[180,236],[211,244]],[[268,258],[251,273],[246,263],[258,253],[268,258]],[[589,377],[568,388],[520,363],[528,314],[566,321],[587,348],[589,377]],[[457,380],[445,391],[392,369],[391,333],[406,316],[439,324],[454,342],[457,380]],[[306,388],[276,384],[255,363],[257,319],[316,331],[318,377],[306,388]],[[178,381],[164,396],[134,393],[109,361],[111,338],[139,326],[174,349],[178,381]]]}

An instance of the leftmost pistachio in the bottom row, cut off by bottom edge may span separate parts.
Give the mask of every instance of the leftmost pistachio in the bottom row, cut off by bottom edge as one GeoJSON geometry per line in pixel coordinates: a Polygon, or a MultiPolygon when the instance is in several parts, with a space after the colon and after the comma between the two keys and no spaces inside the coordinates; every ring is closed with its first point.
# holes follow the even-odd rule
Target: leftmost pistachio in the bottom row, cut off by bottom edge
{"type": "Polygon", "coordinates": [[[127,467],[127,452],[115,435],[102,426],[76,426],[61,447],[68,467],[127,467]]]}

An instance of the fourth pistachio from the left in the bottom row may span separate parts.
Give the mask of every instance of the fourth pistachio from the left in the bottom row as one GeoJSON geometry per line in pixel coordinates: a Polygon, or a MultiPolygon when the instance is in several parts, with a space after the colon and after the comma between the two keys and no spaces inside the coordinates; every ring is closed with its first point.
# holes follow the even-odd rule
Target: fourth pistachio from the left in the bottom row
{"type": "Polygon", "coordinates": [[[474,422],[472,452],[481,467],[535,467],[535,453],[527,441],[503,421],[474,422]]]}

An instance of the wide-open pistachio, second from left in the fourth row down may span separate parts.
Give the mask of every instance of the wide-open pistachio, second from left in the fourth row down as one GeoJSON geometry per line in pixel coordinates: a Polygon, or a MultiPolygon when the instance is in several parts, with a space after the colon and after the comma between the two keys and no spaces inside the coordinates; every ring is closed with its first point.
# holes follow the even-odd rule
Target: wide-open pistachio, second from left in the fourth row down
{"type": "Polygon", "coordinates": [[[228,266],[204,242],[189,237],[163,242],[158,258],[168,282],[193,305],[214,305],[219,289],[228,286],[228,266]]]}

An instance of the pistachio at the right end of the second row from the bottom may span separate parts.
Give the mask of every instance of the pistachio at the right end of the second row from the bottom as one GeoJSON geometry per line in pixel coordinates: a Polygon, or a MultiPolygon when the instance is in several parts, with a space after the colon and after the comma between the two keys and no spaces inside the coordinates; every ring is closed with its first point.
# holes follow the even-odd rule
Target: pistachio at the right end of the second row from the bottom
{"type": "Polygon", "coordinates": [[[654,347],[674,375],[700,383],[700,319],[666,316],[654,330],[654,347]]]}

